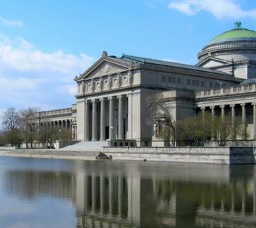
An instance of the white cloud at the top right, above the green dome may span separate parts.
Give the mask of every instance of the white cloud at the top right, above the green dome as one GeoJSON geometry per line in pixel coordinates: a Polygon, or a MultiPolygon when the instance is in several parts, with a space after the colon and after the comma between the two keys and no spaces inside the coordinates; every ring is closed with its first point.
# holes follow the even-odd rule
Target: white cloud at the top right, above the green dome
{"type": "Polygon", "coordinates": [[[256,18],[256,9],[244,11],[236,0],[181,0],[171,1],[170,9],[176,9],[188,16],[200,11],[212,13],[215,18],[256,18]]]}

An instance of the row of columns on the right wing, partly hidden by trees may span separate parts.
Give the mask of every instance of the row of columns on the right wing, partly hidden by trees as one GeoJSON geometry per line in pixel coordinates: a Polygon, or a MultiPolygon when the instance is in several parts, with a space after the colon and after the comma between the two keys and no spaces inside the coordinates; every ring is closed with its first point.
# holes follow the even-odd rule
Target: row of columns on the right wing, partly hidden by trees
{"type": "MultiPolygon", "coordinates": [[[[227,109],[230,109],[230,114],[231,114],[231,121],[232,121],[232,125],[235,125],[235,117],[236,117],[236,112],[235,110],[240,108],[241,111],[241,118],[242,118],[242,126],[243,129],[247,128],[247,112],[246,112],[246,107],[248,107],[249,105],[252,105],[253,109],[252,109],[252,124],[253,124],[253,129],[252,129],[252,136],[253,139],[256,140],[256,102],[252,102],[252,103],[242,103],[242,104],[223,104],[223,105],[215,105],[215,106],[210,106],[210,107],[201,107],[201,112],[202,115],[204,116],[206,109],[210,108],[210,112],[212,114],[212,116],[216,115],[216,109],[218,109],[218,107],[220,108],[220,116],[224,119],[225,113],[227,113],[227,109]]],[[[234,136],[235,137],[235,136],[234,136]]],[[[243,139],[245,139],[245,136],[242,136],[243,139]]]]}

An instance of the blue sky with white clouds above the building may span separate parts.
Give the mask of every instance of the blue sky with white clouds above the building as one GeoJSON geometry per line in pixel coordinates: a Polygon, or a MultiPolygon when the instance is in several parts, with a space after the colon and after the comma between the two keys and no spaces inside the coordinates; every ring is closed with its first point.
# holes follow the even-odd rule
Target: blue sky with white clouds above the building
{"type": "Polygon", "coordinates": [[[103,50],[196,64],[235,21],[256,31],[256,1],[0,0],[0,112],[70,107],[103,50]]]}

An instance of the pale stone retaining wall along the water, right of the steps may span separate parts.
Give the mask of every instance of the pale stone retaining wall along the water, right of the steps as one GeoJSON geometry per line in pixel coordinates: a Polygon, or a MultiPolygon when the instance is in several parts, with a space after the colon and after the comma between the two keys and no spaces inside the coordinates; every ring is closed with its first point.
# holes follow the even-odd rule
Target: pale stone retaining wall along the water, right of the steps
{"type": "Polygon", "coordinates": [[[103,147],[116,160],[181,163],[255,164],[252,147],[103,147]]]}

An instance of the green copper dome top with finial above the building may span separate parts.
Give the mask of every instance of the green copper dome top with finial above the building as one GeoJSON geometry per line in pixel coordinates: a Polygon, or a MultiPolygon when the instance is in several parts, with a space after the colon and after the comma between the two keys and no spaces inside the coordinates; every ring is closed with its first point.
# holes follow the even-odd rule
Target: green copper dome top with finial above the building
{"type": "Polygon", "coordinates": [[[240,23],[235,23],[236,28],[225,31],[210,40],[210,45],[215,43],[232,42],[232,41],[256,41],[256,32],[247,28],[240,28],[240,23]]]}

